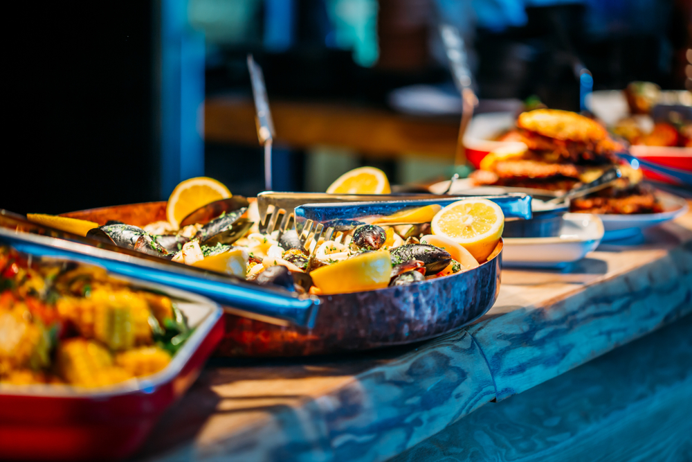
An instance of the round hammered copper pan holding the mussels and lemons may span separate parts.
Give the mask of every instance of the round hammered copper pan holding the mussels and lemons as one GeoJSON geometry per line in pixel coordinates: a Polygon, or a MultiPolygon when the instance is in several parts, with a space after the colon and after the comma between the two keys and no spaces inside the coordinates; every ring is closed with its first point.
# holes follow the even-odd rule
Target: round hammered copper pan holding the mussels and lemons
{"type": "MultiPolygon", "coordinates": [[[[136,226],[165,220],[165,202],[64,213],[104,224],[136,226]]],[[[235,312],[226,315],[224,356],[300,356],[367,350],[437,337],[487,312],[500,290],[502,241],[493,258],[467,272],[417,284],[320,296],[313,328],[277,326],[235,312]]]]}

